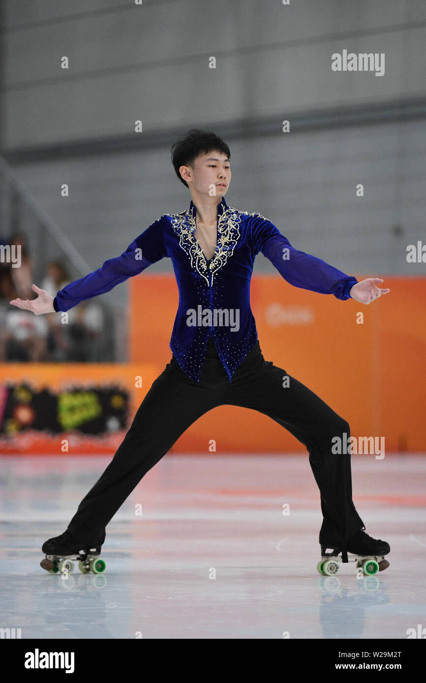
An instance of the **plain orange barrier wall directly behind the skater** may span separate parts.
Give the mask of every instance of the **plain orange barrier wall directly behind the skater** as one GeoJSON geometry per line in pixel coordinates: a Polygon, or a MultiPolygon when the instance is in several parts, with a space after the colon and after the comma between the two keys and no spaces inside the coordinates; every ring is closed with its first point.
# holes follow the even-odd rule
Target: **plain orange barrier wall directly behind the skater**
{"type": "MultiPolygon", "coordinates": [[[[390,292],[366,306],[295,288],[280,276],[254,276],[259,343],[267,361],[347,419],[352,436],[384,436],[388,452],[425,451],[426,279],[386,277],[383,286],[390,292]]],[[[130,295],[131,360],[155,359],[161,372],[172,356],[174,276],[142,273],[131,280],[130,295]]],[[[306,452],[269,417],[236,406],[200,417],[172,450],[207,453],[212,438],[219,453],[306,452]]]]}

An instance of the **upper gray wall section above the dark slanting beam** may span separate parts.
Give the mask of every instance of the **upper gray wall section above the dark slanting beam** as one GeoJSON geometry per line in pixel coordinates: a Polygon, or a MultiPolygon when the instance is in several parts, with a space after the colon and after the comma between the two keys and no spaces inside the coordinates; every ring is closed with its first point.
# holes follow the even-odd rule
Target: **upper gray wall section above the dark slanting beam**
{"type": "Polygon", "coordinates": [[[3,146],[425,93],[421,0],[5,0],[3,146]],[[331,55],[385,53],[385,76],[331,55]],[[66,55],[70,68],[62,70],[66,55]],[[209,68],[209,57],[217,67],[209,68]]]}

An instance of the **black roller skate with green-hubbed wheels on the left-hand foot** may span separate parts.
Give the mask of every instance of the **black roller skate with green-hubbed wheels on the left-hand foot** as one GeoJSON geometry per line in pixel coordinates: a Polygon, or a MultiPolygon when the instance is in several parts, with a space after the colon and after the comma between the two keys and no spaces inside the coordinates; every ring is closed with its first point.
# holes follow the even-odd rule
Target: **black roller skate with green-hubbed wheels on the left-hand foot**
{"type": "Polygon", "coordinates": [[[99,557],[101,546],[102,543],[95,543],[92,546],[81,544],[72,538],[68,531],[64,531],[60,536],[44,542],[42,552],[46,553],[46,557],[40,562],[40,567],[51,574],[72,574],[75,560],[78,561],[79,570],[83,574],[101,574],[105,570],[105,561],[99,557]]]}

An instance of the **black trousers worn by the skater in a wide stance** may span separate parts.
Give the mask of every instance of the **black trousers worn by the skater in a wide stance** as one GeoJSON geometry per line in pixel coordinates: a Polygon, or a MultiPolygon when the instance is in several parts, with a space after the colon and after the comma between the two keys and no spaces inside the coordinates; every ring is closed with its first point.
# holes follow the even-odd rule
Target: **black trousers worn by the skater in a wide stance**
{"type": "MultiPolygon", "coordinates": [[[[102,543],[105,527],[118,508],[198,417],[215,406],[244,406],[271,417],[308,449],[321,496],[319,542],[341,546],[347,561],[345,540],[364,528],[364,522],[352,502],[351,456],[332,454],[332,437],[342,437],[344,432],[349,437],[349,424],[294,377],[289,376],[289,387],[283,387],[284,376],[285,370],[265,361],[258,341],[232,382],[212,337],[200,382],[187,376],[172,355],[137,409],[114,458],[81,501],[69,533],[84,543],[102,543]]],[[[283,462],[283,479],[284,467],[283,462]]]]}

